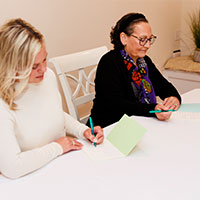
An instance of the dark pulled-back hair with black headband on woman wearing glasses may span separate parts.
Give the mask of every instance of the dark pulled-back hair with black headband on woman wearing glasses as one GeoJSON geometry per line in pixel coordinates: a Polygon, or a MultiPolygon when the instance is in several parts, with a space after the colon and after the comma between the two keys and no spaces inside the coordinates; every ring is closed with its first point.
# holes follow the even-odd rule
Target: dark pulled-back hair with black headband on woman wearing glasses
{"type": "Polygon", "coordinates": [[[112,27],[112,30],[110,32],[110,39],[111,43],[114,46],[114,49],[123,49],[124,45],[121,43],[120,40],[120,33],[124,32],[128,36],[130,36],[133,33],[132,25],[137,24],[139,22],[146,22],[148,23],[148,20],[145,18],[145,16],[141,13],[128,13],[124,15],[114,27],[112,27]]]}

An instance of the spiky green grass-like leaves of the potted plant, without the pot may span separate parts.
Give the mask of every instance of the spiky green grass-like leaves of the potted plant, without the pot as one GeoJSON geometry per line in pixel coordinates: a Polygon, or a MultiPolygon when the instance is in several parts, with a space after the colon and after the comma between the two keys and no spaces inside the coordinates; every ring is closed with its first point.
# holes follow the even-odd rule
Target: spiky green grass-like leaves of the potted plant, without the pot
{"type": "Polygon", "coordinates": [[[200,8],[190,15],[190,22],[194,44],[197,49],[200,49],[200,8]]]}

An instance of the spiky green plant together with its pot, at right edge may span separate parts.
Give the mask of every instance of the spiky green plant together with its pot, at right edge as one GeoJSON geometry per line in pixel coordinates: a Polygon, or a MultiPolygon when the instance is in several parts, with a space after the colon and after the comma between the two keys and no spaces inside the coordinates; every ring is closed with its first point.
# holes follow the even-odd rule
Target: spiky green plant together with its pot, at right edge
{"type": "Polygon", "coordinates": [[[190,29],[195,44],[193,60],[200,62],[200,8],[190,15],[190,29]]]}

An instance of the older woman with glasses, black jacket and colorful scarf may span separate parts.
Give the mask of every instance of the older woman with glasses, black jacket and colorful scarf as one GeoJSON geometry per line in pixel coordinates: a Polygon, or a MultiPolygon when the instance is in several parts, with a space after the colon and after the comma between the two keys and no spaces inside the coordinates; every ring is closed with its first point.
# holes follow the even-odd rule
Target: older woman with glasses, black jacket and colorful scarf
{"type": "Polygon", "coordinates": [[[123,16],[111,31],[114,50],[100,60],[95,79],[96,97],[91,116],[102,127],[118,121],[123,114],[169,119],[172,112],[150,110],[178,109],[181,97],[146,55],[156,36],[143,14],[123,16]],[[163,99],[156,103],[156,96],[163,99]]]}

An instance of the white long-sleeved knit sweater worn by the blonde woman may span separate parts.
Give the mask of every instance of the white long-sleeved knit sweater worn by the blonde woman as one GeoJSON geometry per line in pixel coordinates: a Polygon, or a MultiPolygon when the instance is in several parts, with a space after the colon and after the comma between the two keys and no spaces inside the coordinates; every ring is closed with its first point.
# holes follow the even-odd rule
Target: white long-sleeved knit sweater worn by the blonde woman
{"type": "Polygon", "coordinates": [[[41,83],[29,84],[11,111],[0,98],[0,172],[9,178],[30,173],[63,153],[54,142],[66,132],[83,137],[88,128],[62,110],[54,73],[47,69],[41,83]]]}

